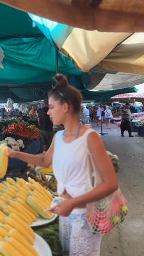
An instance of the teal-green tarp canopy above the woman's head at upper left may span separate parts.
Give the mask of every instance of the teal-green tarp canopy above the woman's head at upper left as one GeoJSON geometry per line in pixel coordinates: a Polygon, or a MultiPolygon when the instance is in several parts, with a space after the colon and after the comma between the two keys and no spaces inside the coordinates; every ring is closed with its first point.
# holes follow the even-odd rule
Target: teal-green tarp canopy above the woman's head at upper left
{"type": "MultiPolygon", "coordinates": [[[[62,28],[62,25],[61,25],[62,28]]],[[[56,47],[44,37],[27,13],[0,3],[0,102],[13,98],[14,102],[43,100],[56,74],[56,47]],[[2,60],[3,59],[3,60],[2,60]]],[[[80,89],[84,100],[97,100],[102,93],[106,99],[134,88],[107,92],[89,91],[91,76],[77,69],[73,61],[58,53],[59,73],[67,75],[69,83],[80,89]],[[109,96],[108,96],[109,95],[109,96]]]]}

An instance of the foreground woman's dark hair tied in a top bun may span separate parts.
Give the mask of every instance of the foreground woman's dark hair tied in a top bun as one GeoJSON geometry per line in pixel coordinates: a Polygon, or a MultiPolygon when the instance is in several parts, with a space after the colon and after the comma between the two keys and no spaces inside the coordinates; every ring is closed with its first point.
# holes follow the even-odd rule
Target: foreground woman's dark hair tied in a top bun
{"type": "Polygon", "coordinates": [[[82,95],[74,86],[69,85],[67,78],[63,74],[56,74],[56,86],[49,91],[48,97],[59,100],[61,104],[67,102],[73,107],[74,113],[79,114],[82,103],[82,95]]]}

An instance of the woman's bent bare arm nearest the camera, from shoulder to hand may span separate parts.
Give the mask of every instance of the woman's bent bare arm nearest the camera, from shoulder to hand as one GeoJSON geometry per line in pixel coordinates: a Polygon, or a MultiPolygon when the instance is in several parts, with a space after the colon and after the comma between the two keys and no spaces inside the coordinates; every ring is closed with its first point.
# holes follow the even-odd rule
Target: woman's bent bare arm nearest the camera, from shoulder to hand
{"type": "Polygon", "coordinates": [[[117,176],[114,167],[99,134],[96,132],[90,133],[87,138],[87,144],[103,182],[85,195],[64,200],[59,203],[57,210],[55,211],[54,209],[53,212],[61,216],[68,216],[74,208],[79,208],[89,202],[103,199],[105,196],[118,189],[117,176]]]}

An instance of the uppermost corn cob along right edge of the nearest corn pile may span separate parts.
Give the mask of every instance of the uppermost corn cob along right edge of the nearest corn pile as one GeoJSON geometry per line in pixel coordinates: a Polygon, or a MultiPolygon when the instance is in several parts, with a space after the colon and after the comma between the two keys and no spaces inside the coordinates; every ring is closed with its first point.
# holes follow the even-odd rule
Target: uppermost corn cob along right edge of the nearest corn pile
{"type": "MultiPolygon", "coordinates": [[[[31,226],[28,226],[25,222],[23,222],[22,219],[20,219],[18,216],[16,216],[15,213],[11,213],[8,218],[15,220],[17,224],[21,226],[22,229],[24,229],[29,235],[31,235],[33,238],[35,237],[34,231],[31,228],[31,226]]],[[[11,220],[10,220],[11,222],[11,220]]],[[[12,223],[13,224],[13,223],[12,223]]],[[[14,225],[14,224],[13,224],[14,225]]]]}

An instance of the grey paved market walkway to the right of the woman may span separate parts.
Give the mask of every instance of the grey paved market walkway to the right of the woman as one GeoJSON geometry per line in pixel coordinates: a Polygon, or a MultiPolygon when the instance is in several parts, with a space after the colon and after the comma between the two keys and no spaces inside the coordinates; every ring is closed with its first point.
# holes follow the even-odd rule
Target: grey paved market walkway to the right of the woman
{"type": "MultiPolygon", "coordinates": [[[[100,132],[100,128],[93,125],[100,132]]],[[[144,138],[133,133],[134,138],[121,137],[119,127],[112,125],[104,129],[102,136],[105,147],[118,155],[121,171],[119,186],[129,203],[129,214],[110,235],[103,236],[101,256],[143,256],[144,255],[144,138]]]]}

